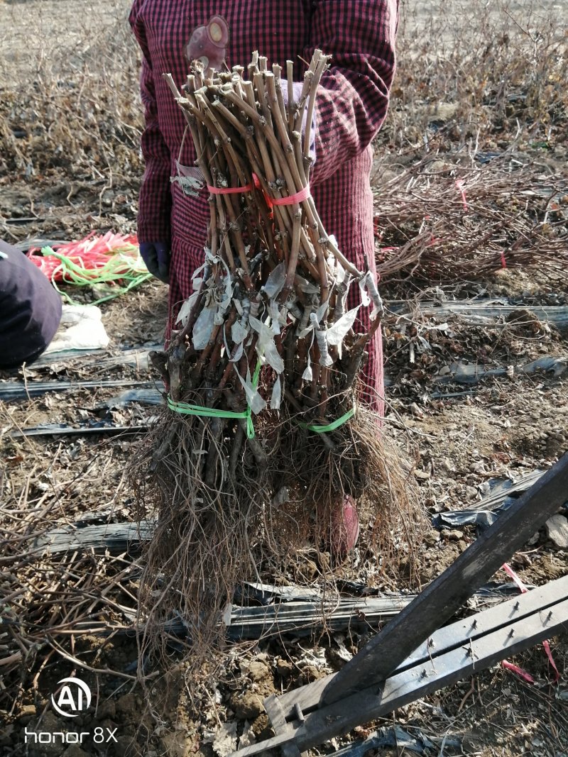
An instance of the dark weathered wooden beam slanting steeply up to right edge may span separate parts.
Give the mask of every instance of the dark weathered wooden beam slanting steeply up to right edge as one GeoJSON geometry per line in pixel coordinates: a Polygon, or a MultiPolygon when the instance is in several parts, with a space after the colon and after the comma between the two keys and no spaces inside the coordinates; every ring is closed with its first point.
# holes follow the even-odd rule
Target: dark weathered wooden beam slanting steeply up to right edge
{"type": "Polygon", "coordinates": [[[568,453],[461,553],[342,668],[324,691],[331,704],[349,693],[384,681],[485,583],[566,502],[568,453]],[[370,678],[372,671],[372,678],[370,678]]]}

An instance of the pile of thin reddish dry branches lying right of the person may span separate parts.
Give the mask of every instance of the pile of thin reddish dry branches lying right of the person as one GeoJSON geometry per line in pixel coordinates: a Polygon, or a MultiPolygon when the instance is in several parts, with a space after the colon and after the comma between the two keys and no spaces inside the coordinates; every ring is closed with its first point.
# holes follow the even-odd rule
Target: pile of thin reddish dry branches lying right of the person
{"type": "Polygon", "coordinates": [[[511,155],[494,162],[467,169],[428,155],[377,186],[376,258],[383,279],[402,272],[423,282],[458,282],[528,266],[563,276],[568,176],[517,166],[511,155]]]}

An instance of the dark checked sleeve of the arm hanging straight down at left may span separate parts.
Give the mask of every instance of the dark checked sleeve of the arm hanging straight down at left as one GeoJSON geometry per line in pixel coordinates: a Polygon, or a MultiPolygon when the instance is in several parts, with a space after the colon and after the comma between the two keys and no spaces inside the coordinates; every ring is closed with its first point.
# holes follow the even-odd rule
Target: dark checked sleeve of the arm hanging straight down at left
{"type": "Polygon", "coordinates": [[[142,132],[142,156],[145,172],[139,194],[138,240],[168,241],[170,239],[170,149],[158,123],[158,106],[154,89],[154,74],[146,42],[145,27],[139,17],[141,2],[134,2],[130,11],[130,26],[142,49],[140,94],[144,106],[145,126],[142,132]]]}

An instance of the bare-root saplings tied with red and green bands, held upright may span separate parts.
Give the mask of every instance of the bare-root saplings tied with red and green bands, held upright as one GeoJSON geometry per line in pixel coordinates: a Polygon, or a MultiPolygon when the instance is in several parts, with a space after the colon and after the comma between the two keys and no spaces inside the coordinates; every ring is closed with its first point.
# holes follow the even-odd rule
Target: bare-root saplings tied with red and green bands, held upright
{"type": "MultiPolygon", "coordinates": [[[[379,419],[357,400],[366,347],[382,316],[373,274],[328,235],[310,192],[321,51],[301,92],[254,54],[247,70],[204,76],[183,93],[209,191],[203,265],[164,354],[167,410],[135,472],[158,512],[146,554],[145,607],[175,611],[194,650],[220,641],[242,579],[261,580],[311,542],[341,553],[345,498],[373,522],[383,560],[410,538],[414,502],[379,419]],[[360,304],[348,309],[351,288],[360,304]],[[356,331],[361,307],[370,329],[356,331]],[[159,587],[159,590],[158,590],[159,587]],[[198,642],[201,642],[198,644],[198,642]]],[[[371,537],[372,534],[372,537],[371,537]]],[[[410,548],[410,547],[408,547],[410,548]]]]}

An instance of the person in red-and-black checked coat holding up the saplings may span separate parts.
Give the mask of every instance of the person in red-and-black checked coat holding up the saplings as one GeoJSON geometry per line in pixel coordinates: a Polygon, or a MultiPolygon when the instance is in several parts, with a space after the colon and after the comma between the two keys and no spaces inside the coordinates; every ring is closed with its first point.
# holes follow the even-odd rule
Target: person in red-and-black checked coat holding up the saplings
{"type": "MultiPolygon", "coordinates": [[[[145,108],[138,237],[148,270],[170,285],[168,336],[204,260],[209,208],[192,139],[163,74],[171,73],[182,89],[190,61],[200,59],[205,71],[231,70],[258,50],[285,72],[292,61],[294,82],[301,83],[315,48],[331,55],[317,90],[311,194],[339,249],[358,269],[375,273],[371,142],[389,104],[397,22],[398,0],[134,0],[130,25],[142,48],[145,108]]],[[[348,307],[359,304],[358,291],[351,288],[348,307]]],[[[359,320],[357,329],[366,330],[367,308],[359,320]]],[[[380,329],[368,353],[362,398],[382,416],[380,329]]],[[[358,528],[355,503],[346,501],[343,547],[354,546],[358,528]]]]}

